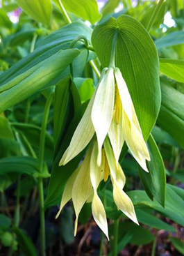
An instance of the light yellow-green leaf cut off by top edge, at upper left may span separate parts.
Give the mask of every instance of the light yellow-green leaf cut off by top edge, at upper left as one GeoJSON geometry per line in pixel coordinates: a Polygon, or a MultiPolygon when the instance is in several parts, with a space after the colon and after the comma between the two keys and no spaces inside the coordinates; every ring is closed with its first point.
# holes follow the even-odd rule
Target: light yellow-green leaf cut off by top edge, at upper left
{"type": "Polygon", "coordinates": [[[17,4],[30,15],[33,20],[49,25],[51,22],[51,0],[16,0],[17,4]]]}

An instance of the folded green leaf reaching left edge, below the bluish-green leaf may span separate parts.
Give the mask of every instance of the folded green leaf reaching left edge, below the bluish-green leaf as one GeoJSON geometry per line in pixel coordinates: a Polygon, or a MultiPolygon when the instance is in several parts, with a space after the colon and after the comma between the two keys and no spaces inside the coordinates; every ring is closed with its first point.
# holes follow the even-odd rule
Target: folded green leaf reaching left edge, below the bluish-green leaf
{"type": "Polygon", "coordinates": [[[0,112],[20,103],[42,89],[59,75],[79,54],[78,50],[64,50],[40,62],[14,80],[3,84],[0,93],[0,112]],[[17,84],[18,82],[18,84],[17,84]]]}

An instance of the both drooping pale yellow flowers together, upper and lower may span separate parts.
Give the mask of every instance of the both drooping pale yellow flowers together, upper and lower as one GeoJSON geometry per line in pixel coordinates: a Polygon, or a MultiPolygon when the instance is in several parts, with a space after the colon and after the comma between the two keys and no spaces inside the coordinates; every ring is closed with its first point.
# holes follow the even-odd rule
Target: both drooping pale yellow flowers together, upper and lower
{"type": "Polygon", "coordinates": [[[119,68],[104,68],[98,87],[59,163],[66,165],[90,143],[83,162],[65,185],[56,216],[72,199],[76,213],[75,234],[83,205],[92,202],[94,220],[108,237],[106,211],[97,188],[102,179],[107,181],[109,175],[117,208],[137,223],[133,203],[123,190],[125,176],[118,163],[124,142],[137,163],[148,172],[146,160],[150,160],[149,151],[126,82],[119,68]]]}

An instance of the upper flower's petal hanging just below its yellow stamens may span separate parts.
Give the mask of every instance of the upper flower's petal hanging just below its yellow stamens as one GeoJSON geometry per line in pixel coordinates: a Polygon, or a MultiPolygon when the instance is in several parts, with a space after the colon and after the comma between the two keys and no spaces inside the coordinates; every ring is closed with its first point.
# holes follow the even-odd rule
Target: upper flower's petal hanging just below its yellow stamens
{"type": "Polygon", "coordinates": [[[115,116],[112,118],[112,122],[110,124],[110,129],[108,130],[108,137],[110,139],[110,143],[112,145],[112,149],[115,153],[116,163],[118,164],[119,156],[122,151],[122,147],[124,145],[124,133],[122,126],[122,112],[120,116],[119,123],[117,124],[115,120],[115,116]]]}

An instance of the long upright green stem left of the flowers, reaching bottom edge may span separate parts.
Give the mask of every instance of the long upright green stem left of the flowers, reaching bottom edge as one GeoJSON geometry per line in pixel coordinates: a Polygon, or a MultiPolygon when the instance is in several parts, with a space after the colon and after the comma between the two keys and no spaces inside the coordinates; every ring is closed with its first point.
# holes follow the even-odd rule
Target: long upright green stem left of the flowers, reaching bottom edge
{"type": "MultiPolygon", "coordinates": [[[[52,102],[52,96],[47,99],[47,102],[44,107],[44,116],[42,120],[42,129],[40,135],[40,151],[39,151],[39,170],[40,173],[43,172],[44,164],[44,143],[45,143],[45,133],[47,129],[47,120],[49,116],[49,109],[52,102]]],[[[45,221],[44,221],[44,186],[43,178],[40,176],[37,179],[38,183],[38,192],[40,199],[40,255],[45,256],[45,221]]]]}

